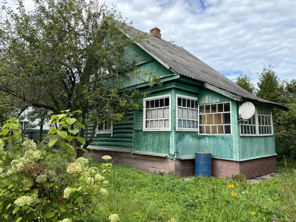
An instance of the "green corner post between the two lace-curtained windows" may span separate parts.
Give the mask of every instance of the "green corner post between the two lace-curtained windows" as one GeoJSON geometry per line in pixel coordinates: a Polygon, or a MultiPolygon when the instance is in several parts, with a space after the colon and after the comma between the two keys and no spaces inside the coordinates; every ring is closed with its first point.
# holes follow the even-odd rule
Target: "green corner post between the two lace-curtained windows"
{"type": "Polygon", "coordinates": [[[176,151],[176,89],[172,89],[172,96],[171,96],[171,128],[172,131],[170,132],[170,155],[169,159],[175,158],[175,151],[176,151]]]}

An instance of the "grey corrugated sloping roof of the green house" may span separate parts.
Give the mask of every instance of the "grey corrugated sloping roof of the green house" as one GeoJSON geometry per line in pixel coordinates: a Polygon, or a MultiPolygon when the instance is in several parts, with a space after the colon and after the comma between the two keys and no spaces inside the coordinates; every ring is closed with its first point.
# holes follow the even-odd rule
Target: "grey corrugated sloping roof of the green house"
{"type": "MultiPolygon", "coordinates": [[[[136,28],[124,25],[120,28],[126,29],[126,35],[128,37],[139,36],[147,34],[136,28]]],[[[154,57],[158,62],[167,67],[168,69],[175,70],[178,74],[193,78],[195,80],[208,83],[224,91],[241,96],[246,99],[255,100],[258,102],[264,102],[274,104],[283,107],[286,106],[270,102],[265,99],[260,99],[257,96],[242,89],[236,83],[226,78],[221,73],[218,73],[212,67],[208,66],[200,59],[186,51],[184,48],[172,44],[163,39],[157,38],[150,34],[147,34],[145,38],[135,42],[144,51],[154,57]]]]}

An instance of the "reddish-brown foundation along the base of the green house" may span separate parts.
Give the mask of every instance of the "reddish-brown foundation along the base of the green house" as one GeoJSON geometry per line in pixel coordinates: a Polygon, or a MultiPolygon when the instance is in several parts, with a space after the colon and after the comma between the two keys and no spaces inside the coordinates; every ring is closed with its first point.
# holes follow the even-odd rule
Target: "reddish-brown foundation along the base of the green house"
{"type": "MultiPolygon", "coordinates": [[[[165,176],[173,171],[176,176],[188,177],[194,175],[194,160],[170,160],[167,157],[149,155],[131,155],[126,152],[112,152],[104,150],[89,150],[88,154],[94,161],[104,162],[102,156],[112,157],[114,165],[133,167],[148,173],[164,173],[165,176]]],[[[85,154],[86,157],[86,154],[85,154]]],[[[247,179],[274,173],[276,170],[276,156],[263,157],[242,162],[212,158],[212,176],[231,177],[242,173],[247,179]]]]}

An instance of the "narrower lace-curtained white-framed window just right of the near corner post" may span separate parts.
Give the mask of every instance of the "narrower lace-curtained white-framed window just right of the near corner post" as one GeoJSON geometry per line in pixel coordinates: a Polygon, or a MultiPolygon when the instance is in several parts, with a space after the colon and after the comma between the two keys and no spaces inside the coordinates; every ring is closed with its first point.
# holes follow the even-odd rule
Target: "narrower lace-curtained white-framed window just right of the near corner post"
{"type": "Polygon", "coordinates": [[[176,95],[176,131],[198,131],[196,97],[176,95]]]}

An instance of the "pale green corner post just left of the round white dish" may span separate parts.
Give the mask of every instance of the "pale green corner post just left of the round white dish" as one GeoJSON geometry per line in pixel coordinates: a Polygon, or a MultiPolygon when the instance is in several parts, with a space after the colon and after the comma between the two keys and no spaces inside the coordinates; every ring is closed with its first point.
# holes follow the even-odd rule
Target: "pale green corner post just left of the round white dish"
{"type": "Polygon", "coordinates": [[[239,160],[239,138],[240,129],[238,121],[238,104],[236,101],[231,101],[231,127],[232,127],[232,144],[233,144],[233,159],[239,160]]]}

